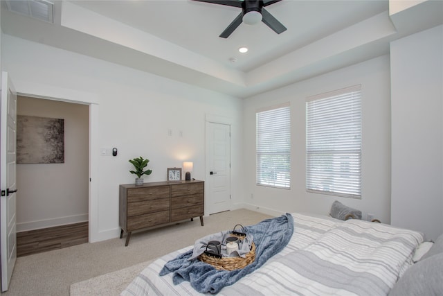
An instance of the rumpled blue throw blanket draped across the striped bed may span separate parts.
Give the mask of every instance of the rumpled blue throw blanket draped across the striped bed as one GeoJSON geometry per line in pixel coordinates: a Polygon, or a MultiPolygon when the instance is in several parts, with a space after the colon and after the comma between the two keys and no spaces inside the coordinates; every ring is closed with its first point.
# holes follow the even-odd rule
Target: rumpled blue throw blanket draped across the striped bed
{"type": "Polygon", "coordinates": [[[160,275],[174,272],[172,280],[176,285],[182,281],[189,281],[192,288],[199,293],[218,293],[224,286],[234,284],[280,252],[291,239],[293,218],[291,214],[286,214],[244,228],[248,234],[253,235],[255,243],[255,261],[245,268],[232,271],[217,270],[208,263],[188,260],[192,256],[192,250],[189,250],[166,263],[160,275]]]}

